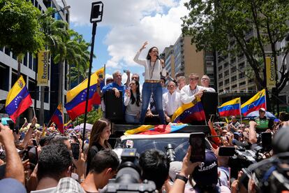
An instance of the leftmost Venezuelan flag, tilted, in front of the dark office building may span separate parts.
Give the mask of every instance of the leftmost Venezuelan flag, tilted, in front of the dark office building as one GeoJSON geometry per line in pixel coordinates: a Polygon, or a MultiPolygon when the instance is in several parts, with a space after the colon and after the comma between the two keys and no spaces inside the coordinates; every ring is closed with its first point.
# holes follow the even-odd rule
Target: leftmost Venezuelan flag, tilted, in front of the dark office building
{"type": "Polygon", "coordinates": [[[31,96],[27,90],[26,83],[22,76],[18,78],[12,89],[8,92],[5,110],[11,120],[15,122],[16,118],[21,115],[29,106],[31,106],[31,96]]]}

